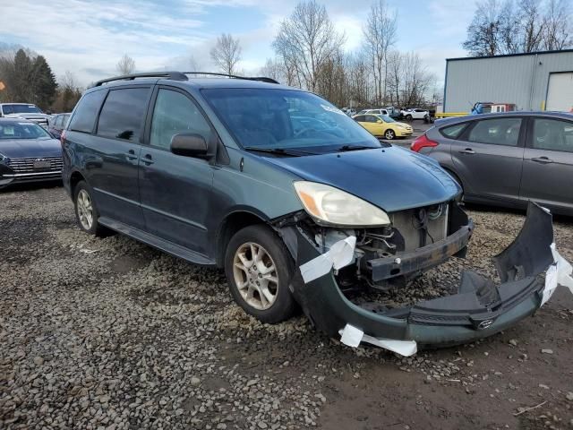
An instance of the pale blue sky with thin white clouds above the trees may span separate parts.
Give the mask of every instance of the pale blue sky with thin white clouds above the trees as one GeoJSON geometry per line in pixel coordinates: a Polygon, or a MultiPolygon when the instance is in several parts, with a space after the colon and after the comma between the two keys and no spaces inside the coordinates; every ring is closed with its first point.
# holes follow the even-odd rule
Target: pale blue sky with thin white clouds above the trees
{"type": "MultiPolygon", "coordinates": [[[[274,56],[272,41],[297,0],[0,0],[0,44],[29,47],[46,56],[57,77],[73,73],[85,86],[113,76],[124,54],[136,70],[214,71],[210,48],[219,34],[240,39],[239,68],[257,73],[274,56]]],[[[401,51],[416,51],[443,82],[449,57],[466,56],[461,43],[472,0],[387,0],[398,13],[401,51]]],[[[345,48],[363,43],[370,0],[323,0],[330,20],[346,35],[345,48]]]]}

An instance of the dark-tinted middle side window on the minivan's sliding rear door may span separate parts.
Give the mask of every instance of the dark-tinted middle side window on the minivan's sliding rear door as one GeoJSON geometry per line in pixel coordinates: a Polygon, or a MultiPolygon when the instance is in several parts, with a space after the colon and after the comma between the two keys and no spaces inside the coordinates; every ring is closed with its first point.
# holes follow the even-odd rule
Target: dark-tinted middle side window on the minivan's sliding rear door
{"type": "Polygon", "coordinates": [[[98,136],[139,142],[149,88],[111,90],[99,114],[98,136]]]}

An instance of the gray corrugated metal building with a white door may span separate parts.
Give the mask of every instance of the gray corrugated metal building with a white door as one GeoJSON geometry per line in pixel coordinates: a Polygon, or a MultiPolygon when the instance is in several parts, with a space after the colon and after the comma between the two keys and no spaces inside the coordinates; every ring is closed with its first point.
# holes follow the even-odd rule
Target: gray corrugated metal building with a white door
{"type": "Polygon", "coordinates": [[[449,58],[444,112],[469,112],[477,101],[517,110],[573,108],[573,49],[535,54],[449,58]]]}

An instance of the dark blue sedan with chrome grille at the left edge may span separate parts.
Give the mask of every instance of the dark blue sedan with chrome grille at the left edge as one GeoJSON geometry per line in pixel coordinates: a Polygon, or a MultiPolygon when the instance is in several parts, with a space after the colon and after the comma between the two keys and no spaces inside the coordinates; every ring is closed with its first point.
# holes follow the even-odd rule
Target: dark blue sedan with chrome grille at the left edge
{"type": "Polygon", "coordinates": [[[0,188],[61,178],[59,141],[32,121],[0,118],[0,188]]]}

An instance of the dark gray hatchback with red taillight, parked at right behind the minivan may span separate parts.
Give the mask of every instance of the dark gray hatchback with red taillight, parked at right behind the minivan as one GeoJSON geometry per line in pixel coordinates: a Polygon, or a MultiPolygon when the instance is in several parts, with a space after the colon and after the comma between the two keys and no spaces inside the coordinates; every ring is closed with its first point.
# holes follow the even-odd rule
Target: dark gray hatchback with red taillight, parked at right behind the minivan
{"type": "Polygon", "coordinates": [[[432,157],[466,202],[525,208],[535,201],[573,215],[573,115],[508,112],[440,120],[412,150],[432,157]]]}

